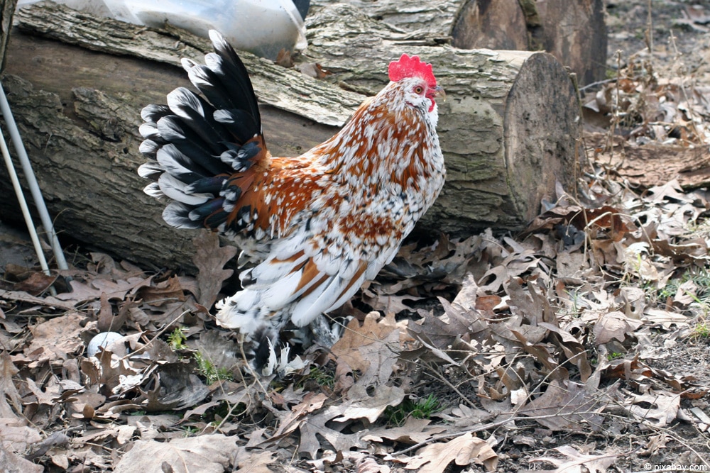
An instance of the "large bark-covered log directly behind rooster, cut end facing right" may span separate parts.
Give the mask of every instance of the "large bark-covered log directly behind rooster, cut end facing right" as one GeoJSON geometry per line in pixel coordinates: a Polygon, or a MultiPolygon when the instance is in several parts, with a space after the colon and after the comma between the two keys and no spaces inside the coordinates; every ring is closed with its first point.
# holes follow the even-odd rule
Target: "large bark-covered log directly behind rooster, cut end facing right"
{"type": "MultiPolygon", "coordinates": [[[[181,55],[197,59],[207,42],[58,6],[31,12],[18,14],[23,30],[75,43],[13,34],[7,72],[21,79],[4,81],[58,228],[134,261],[192,266],[193,234],[165,226],[163,204],[141,192],[138,113],[187,84],[182,69],[155,58],[175,65],[181,55]]],[[[329,138],[364,98],[352,90],[383,87],[386,64],[408,52],[432,62],[447,90],[439,135],[449,179],[420,228],[461,235],[488,226],[517,230],[535,216],[542,197],[554,195],[556,180],[571,180],[579,108],[572,82],[552,56],[432,45],[351,6],[331,6],[309,22],[305,58],[334,72],[332,84],[244,55],[264,103],[272,152],[295,154],[329,138]],[[327,106],[319,104],[322,97],[327,106]]],[[[0,196],[13,202],[5,182],[0,196]]],[[[7,218],[14,210],[4,204],[0,212],[7,218]]]]}

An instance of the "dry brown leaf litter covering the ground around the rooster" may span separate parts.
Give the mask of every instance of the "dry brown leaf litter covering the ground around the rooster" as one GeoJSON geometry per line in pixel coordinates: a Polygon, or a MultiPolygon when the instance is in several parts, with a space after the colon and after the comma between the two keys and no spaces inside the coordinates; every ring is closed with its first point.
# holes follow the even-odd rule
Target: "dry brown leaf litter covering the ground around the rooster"
{"type": "MultiPolygon", "coordinates": [[[[706,142],[705,95],[684,102],[643,60],[585,96],[621,130],[608,141],[706,142]]],[[[195,275],[92,252],[53,277],[6,237],[21,260],[0,291],[1,469],[710,469],[710,196],[638,182],[597,138],[523,233],[406,245],[329,314],[337,343],[267,379],[210,315],[234,279],[214,235],[196,237],[195,275]],[[121,338],[89,357],[104,332],[121,338]]]]}

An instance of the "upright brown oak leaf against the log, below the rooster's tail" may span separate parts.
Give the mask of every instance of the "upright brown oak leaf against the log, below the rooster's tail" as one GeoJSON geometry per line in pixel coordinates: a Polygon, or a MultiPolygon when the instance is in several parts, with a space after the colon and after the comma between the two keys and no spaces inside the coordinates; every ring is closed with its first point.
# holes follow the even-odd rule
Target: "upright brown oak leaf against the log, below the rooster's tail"
{"type": "Polygon", "coordinates": [[[200,297],[197,301],[208,310],[217,300],[217,295],[222,289],[222,282],[230,277],[234,271],[223,269],[229,260],[236,256],[237,249],[233,246],[219,246],[217,233],[200,232],[192,239],[197,252],[192,262],[197,267],[197,285],[200,287],[200,297]]]}

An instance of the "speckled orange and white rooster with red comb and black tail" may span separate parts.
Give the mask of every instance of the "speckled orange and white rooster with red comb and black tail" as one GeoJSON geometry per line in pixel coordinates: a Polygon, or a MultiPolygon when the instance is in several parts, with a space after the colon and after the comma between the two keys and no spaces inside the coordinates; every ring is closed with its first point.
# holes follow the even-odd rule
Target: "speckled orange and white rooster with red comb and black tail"
{"type": "Polygon", "coordinates": [[[258,371],[289,321],[304,327],[348,301],[391,262],[434,203],[446,171],[439,148],[432,65],[402,55],[391,82],[342,130],[298,157],[274,157],[261,130],[249,74],[210,31],[205,65],[183,59],[201,94],[179,87],[141,116],[151,158],[145,191],[167,196],[163,219],[210,228],[242,250],[242,288],[217,304],[217,323],[238,329],[258,371]]]}

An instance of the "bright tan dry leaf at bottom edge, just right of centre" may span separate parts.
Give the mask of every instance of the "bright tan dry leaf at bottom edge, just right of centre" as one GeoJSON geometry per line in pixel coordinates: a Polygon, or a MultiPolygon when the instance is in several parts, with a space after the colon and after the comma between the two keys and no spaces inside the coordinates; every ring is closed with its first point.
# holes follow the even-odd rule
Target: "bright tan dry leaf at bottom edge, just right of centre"
{"type": "Polygon", "coordinates": [[[471,433],[460,435],[445,443],[432,443],[417,451],[417,456],[407,462],[406,469],[421,469],[427,473],[442,473],[454,462],[459,466],[471,463],[482,464],[486,471],[493,472],[498,466],[498,455],[486,440],[471,433]]]}

